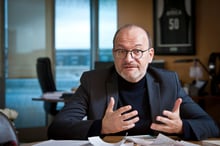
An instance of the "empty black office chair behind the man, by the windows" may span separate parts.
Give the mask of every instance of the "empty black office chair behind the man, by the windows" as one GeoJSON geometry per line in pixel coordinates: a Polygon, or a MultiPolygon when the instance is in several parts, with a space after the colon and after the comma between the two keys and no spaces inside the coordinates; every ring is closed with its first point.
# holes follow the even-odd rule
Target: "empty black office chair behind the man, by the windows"
{"type": "MultiPolygon", "coordinates": [[[[48,57],[37,58],[37,77],[43,93],[57,91],[51,62],[48,57]]],[[[47,113],[55,116],[58,113],[56,102],[44,102],[44,109],[47,113]]]]}

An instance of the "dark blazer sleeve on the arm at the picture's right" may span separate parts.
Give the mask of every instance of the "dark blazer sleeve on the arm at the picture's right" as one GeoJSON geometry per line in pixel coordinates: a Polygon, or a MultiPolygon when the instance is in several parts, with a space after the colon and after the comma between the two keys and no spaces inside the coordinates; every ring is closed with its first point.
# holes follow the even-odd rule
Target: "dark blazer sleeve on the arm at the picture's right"
{"type": "Polygon", "coordinates": [[[178,94],[183,99],[180,107],[180,116],[184,121],[184,139],[202,140],[209,137],[219,136],[219,127],[215,121],[205,112],[191,97],[189,97],[179,83],[175,74],[178,94]]]}

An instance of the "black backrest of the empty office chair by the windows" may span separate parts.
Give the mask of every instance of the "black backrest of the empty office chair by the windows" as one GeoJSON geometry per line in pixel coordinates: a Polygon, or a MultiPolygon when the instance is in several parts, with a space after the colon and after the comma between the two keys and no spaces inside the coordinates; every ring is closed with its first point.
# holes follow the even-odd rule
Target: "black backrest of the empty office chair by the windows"
{"type": "Polygon", "coordinates": [[[37,59],[37,76],[43,93],[56,91],[51,62],[48,57],[37,59]]]}

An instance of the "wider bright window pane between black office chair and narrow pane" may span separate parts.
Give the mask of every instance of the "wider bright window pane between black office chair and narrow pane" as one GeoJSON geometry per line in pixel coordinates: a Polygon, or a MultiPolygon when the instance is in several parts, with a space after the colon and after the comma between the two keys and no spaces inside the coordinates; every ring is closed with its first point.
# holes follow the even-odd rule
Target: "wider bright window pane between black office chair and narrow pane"
{"type": "Polygon", "coordinates": [[[90,69],[90,1],[55,1],[56,82],[58,89],[78,86],[90,69]]]}

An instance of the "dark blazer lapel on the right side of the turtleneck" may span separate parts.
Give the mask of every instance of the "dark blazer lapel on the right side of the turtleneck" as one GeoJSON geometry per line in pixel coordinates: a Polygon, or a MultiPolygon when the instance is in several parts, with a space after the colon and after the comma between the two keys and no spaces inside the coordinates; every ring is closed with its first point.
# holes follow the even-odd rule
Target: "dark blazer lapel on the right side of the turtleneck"
{"type": "Polygon", "coordinates": [[[146,78],[152,122],[156,122],[156,116],[161,115],[159,83],[156,82],[149,73],[147,73],[146,78]]]}

